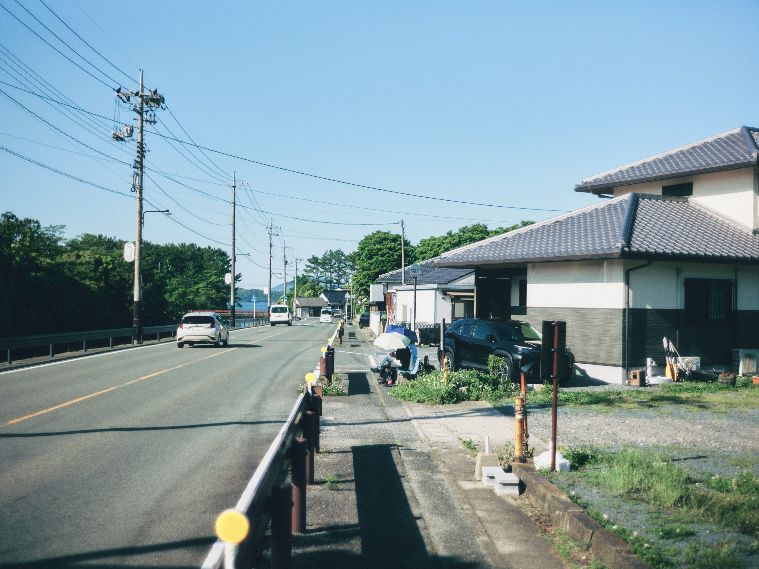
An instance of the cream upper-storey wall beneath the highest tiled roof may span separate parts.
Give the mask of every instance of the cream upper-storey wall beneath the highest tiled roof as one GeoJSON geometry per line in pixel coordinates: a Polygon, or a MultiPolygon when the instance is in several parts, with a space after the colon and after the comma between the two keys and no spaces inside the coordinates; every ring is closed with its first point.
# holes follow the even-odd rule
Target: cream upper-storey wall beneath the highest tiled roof
{"type": "Polygon", "coordinates": [[[630,184],[614,188],[614,196],[625,193],[662,193],[662,186],[693,182],[693,199],[715,209],[748,227],[759,226],[757,221],[757,174],[754,168],[738,168],[710,174],[683,176],[643,184],[630,184]]]}

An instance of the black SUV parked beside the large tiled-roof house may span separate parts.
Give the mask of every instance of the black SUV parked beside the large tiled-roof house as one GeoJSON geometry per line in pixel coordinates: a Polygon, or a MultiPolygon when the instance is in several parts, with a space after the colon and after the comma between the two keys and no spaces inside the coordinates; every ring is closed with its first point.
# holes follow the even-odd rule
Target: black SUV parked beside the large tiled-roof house
{"type": "MultiPolygon", "coordinates": [[[[519,374],[524,372],[528,382],[540,381],[540,332],[528,322],[456,320],[446,331],[444,350],[454,370],[460,367],[487,369],[487,357],[493,354],[505,361],[502,376],[518,381],[519,374]]],[[[568,346],[566,352],[568,373],[565,377],[569,377],[575,367],[575,355],[568,346]]]]}

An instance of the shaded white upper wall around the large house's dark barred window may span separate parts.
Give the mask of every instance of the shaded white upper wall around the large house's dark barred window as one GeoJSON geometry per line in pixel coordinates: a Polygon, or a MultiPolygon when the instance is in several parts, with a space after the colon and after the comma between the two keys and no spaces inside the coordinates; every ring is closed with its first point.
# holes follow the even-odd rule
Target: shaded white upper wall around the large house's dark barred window
{"type": "MultiPolygon", "coordinates": [[[[625,269],[641,264],[628,260],[625,269]]],[[[654,261],[650,267],[630,273],[630,307],[684,309],[685,278],[732,279],[735,266],[654,261]]],[[[738,310],[759,310],[759,267],[738,266],[738,310]]]]}

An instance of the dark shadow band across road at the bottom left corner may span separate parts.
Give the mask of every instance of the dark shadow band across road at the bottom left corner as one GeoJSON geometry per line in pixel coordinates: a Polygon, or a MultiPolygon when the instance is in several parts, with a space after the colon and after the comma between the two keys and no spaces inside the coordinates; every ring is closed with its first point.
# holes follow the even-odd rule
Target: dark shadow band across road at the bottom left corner
{"type": "MultiPolygon", "coordinates": [[[[119,547],[115,549],[100,549],[99,551],[76,553],[74,555],[63,555],[61,557],[51,557],[46,559],[38,559],[35,561],[21,561],[20,563],[4,563],[0,564],[0,569],[51,569],[52,567],[71,567],[74,564],[79,564],[83,561],[90,561],[93,559],[124,557],[130,555],[145,555],[153,552],[165,552],[172,549],[184,549],[184,548],[202,548],[205,550],[213,542],[216,541],[216,537],[196,537],[193,539],[181,539],[175,542],[156,543],[153,545],[133,545],[130,547],[119,547]]],[[[115,564],[90,564],[83,565],[86,567],[110,567],[111,569],[118,569],[118,567],[140,567],[140,564],[128,564],[128,563],[115,563],[115,564]]],[[[191,567],[190,565],[162,565],[162,567],[191,567]]]]}

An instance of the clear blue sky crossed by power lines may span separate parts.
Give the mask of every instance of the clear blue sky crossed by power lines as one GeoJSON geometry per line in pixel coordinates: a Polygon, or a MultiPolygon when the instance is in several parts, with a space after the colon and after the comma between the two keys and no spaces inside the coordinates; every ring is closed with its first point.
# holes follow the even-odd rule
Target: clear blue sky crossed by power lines
{"type": "MultiPolygon", "coordinates": [[[[18,2],[0,0],[109,86],[118,81],[134,89],[143,68],[146,86],[159,89],[197,143],[389,190],[577,209],[596,200],[573,191],[582,178],[742,124],[759,126],[757,2],[45,0],[131,81],[39,0],[18,2]],[[115,81],[68,51],[21,5],[115,81]]],[[[2,84],[0,89],[71,137],[131,163],[134,143],[108,142],[112,88],[58,55],[2,8],[0,44],[76,105],[108,119],[90,124],[90,132],[80,118],[72,121],[43,99],[2,84]]],[[[0,50],[0,81],[31,85],[20,82],[10,61],[0,50]]],[[[43,93],[39,85],[33,90],[43,93]]],[[[129,193],[128,165],[101,159],[2,94],[0,115],[0,146],[129,193]]],[[[133,116],[122,110],[118,124],[133,116]]],[[[160,132],[170,129],[187,140],[168,112],[158,118],[160,132]]],[[[146,140],[151,167],[186,177],[175,179],[194,189],[150,172],[153,179],[198,217],[146,179],[147,199],[213,240],[230,243],[231,192],[224,183],[236,171],[250,184],[260,209],[270,213],[242,210],[238,250],[265,266],[263,218],[272,218],[283,228],[275,238],[278,273],[281,238],[306,259],[328,248],[354,250],[376,229],[398,231],[394,225],[328,225],[285,215],[366,224],[403,218],[412,243],[472,220],[496,227],[556,215],[393,196],[208,153],[216,163],[211,168],[219,169],[212,178],[209,167],[198,168],[197,159],[185,159],[165,140],[153,134],[146,140]]],[[[134,200],[2,151],[0,171],[2,211],[66,225],[68,237],[88,232],[134,240],[134,200]]],[[[238,196],[242,205],[253,206],[246,190],[238,196]]],[[[206,237],[161,215],[146,217],[146,239],[216,245],[206,237]]],[[[242,286],[266,283],[266,271],[246,259],[238,258],[238,268],[242,286]]]]}

